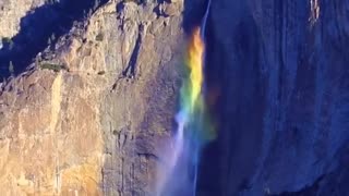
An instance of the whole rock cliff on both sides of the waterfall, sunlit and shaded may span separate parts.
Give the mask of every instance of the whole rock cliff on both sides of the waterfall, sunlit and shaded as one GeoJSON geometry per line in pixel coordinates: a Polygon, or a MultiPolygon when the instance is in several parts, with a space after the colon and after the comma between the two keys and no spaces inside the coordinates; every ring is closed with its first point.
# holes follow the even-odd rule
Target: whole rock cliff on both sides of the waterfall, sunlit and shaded
{"type": "MultiPolygon", "coordinates": [[[[219,95],[218,138],[204,150],[198,195],[348,193],[348,8],[213,0],[206,79],[219,95]]],[[[12,37],[0,48],[1,193],[152,195],[184,34],[203,10],[1,1],[0,37],[12,37]]]]}

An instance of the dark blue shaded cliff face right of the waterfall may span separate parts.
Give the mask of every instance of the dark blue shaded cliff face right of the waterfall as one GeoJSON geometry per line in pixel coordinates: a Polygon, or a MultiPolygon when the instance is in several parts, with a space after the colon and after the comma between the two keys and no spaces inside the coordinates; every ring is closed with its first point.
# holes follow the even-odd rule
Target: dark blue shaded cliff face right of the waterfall
{"type": "Polygon", "coordinates": [[[213,1],[208,75],[222,88],[221,122],[202,170],[219,166],[220,181],[203,174],[203,193],[348,193],[346,174],[332,183],[348,163],[348,5],[213,1]]]}

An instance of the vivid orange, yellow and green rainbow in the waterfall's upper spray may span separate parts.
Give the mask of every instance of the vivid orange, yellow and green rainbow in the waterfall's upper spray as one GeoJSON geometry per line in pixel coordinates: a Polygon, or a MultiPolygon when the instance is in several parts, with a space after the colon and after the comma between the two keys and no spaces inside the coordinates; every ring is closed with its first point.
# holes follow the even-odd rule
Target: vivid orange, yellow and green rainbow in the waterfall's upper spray
{"type": "Polygon", "coordinates": [[[198,139],[201,144],[213,140],[216,137],[213,123],[209,120],[207,107],[204,100],[204,53],[205,42],[200,27],[194,28],[185,61],[185,70],[189,73],[183,82],[180,96],[180,112],[177,122],[184,124],[188,131],[194,131],[191,139],[198,139]]]}

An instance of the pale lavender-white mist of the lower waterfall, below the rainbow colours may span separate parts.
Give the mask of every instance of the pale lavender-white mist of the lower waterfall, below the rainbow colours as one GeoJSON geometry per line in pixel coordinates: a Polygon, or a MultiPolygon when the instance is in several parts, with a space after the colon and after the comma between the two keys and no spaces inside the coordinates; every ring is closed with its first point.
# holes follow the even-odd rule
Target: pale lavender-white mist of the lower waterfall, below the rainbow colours
{"type": "MultiPolygon", "coordinates": [[[[190,139],[185,138],[188,135],[184,133],[188,125],[186,119],[185,112],[179,112],[176,117],[177,133],[164,149],[164,157],[157,170],[157,196],[192,196],[195,193],[193,181],[196,176],[191,175],[191,170],[193,170],[192,145],[190,139]]],[[[194,173],[196,174],[196,171],[194,173]]]]}

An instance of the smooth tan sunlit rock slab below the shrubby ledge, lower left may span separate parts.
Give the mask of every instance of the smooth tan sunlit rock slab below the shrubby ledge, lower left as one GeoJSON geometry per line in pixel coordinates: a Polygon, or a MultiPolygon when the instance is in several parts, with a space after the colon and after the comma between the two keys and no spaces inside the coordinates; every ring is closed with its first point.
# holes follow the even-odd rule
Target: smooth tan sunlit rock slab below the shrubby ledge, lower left
{"type": "Polygon", "coordinates": [[[35,71],[1,95],[4,195],[99,192],[99,88],[67,73],[35,71]]]}

